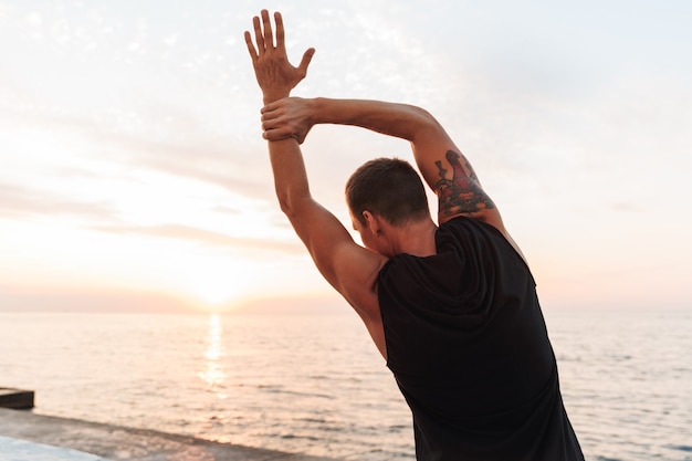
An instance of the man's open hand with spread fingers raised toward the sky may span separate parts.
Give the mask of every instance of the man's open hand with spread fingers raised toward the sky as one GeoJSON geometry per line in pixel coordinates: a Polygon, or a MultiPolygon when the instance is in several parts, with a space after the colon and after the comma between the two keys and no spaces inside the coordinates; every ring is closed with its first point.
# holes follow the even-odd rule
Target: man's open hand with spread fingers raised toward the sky
{"type": "Polygon", "coordinates": [[[274,13],[274,21],[276,22],[275,44],[269,11],[262,10],[261,15],[262,23],[260,23],[259,17],[252,18],[256,49],[252,43],[252,35],[248,31],[245,31],[245,43],[250,57],[252,57],[254,74],[264,95],[264,104],[269,104],[289,96],[291,90],[305,78],[315,49],[307,49],[303,54],[301,64],[294,67],[286,56],[281,13],[274,13]]]}

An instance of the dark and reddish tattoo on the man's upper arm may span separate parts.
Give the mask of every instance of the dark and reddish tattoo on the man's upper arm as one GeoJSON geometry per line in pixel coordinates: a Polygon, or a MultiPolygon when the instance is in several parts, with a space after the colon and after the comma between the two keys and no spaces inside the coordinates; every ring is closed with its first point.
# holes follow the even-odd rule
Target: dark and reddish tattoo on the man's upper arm
{"type": "Polygon", "coordinates": [[[478,177],[465,157],[448,150],[447,161],[452,166],[452,179],[447,179],[442,161],[436,161],[440,180],[434,190],[440,201],[440,214],[473,214],[495,208],[495,203],[481,188],[478,177]],[[462,165],[463,161],[463,165],[462,165]]]}

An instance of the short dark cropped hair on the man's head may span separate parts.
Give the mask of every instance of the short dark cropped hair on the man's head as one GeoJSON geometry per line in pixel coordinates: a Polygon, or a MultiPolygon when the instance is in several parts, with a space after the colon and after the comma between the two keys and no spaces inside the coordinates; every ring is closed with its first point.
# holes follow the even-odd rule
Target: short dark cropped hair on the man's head
{"type": "Polygon", "coordinates": [[[376,158],[360,166],[346,182],[346,202],[361,224],[366,210],[392,226],[430,216],[420,176],[398,158],[376,158]]]}

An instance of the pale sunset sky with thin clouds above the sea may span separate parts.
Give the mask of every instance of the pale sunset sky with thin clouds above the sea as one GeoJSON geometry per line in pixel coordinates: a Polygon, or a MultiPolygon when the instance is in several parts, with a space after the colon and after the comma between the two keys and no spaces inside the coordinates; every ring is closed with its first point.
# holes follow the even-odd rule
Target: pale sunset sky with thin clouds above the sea
{"type": "MultiPolygon", "coordinates": [[[[242,38],[302,97],[431,112],[548,310],[692,310],[688,1],[0,0],[0,311],[338,303],[279,210],[242,38]]],[[[407,143],[317,126],[315,198],[407,143]]],[[[433,207],[434,209],[434,207],[433,207]]],[[[354,235],[357,240],[357,235],[354,235]]]]}

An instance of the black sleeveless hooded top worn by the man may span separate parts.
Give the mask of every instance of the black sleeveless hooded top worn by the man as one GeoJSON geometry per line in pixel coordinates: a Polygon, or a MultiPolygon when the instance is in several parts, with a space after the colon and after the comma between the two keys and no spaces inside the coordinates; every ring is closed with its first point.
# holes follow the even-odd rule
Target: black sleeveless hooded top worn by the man
{"type": "Polygon", "coordinates": [[[531,271],[492,226],[440,226],[437,254],[380,271],[391,369],[419,461],[584,460],[531,271]]]}

